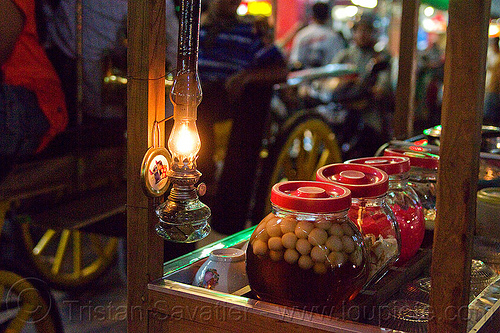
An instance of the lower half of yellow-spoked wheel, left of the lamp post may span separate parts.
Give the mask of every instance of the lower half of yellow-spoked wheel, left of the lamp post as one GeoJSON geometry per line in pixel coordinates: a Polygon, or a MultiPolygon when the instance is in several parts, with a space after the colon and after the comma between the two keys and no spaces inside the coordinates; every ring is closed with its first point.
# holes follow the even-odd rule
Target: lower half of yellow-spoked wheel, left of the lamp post
{"type": "Polygon", "coordinates": [[[79,230],[56,231],[21,224],[28,256],[37,271],[58,289],[84,287],[115,259],[118,238],[79,230]]]}

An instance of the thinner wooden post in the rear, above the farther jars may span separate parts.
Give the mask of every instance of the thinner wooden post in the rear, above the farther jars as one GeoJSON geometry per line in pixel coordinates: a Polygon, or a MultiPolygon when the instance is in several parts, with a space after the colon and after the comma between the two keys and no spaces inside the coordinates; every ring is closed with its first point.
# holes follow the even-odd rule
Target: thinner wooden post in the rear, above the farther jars
{"type": "Polygon", "coordinates": [[[402,1],[402,6],[398,86],[393,124],[394,135],[401,140],[413,136],[420,1],[402,1]]]}

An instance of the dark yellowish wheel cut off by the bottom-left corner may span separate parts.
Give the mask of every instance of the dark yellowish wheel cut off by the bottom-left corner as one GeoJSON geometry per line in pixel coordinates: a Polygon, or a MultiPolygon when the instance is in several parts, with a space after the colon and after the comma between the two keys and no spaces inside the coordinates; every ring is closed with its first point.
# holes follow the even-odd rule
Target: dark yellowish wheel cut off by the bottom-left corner
{"type": "Polygon", "coordinates": [[[57,305],[43,281],[0,269],[0,331],[63,332],[57,305]]]}

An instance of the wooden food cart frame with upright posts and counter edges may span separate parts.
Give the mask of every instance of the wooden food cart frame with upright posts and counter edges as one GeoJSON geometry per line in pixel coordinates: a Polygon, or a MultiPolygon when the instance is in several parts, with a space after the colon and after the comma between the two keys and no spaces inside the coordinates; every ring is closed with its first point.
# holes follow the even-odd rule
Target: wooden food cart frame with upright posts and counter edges
{"type": "MultiPolygon", "coordinates": [[[[488,0],[451,0],[449,3],[438,215],[430,264],[430,315],[424,323],[429,332],[465,332],[468,325],[489,9],[488,0]]],[[[192,274],[201,265],[200,259],[214,247],[200,249],[163,265],[163,239],[156,234],[157,217],[154,213],[160,199],[144,195],[139,170],[144,153],[153,142],[153,123],[161,119],[159,112],[164,110],[164,11],[164,1],[129,2],[128,331],[390,331],[382,323],[351,320],[355,316],[352,313],[339,319],[252,299],[245,296],[248,290],[225,294],[183,283],[182,279],[192,274]],[[167,278],[162,279],[165,273],[167,278]]],[[[405,139],[411,133],[417,17],[418,2],[404,1],[400,46],[404,52],[400,52],[395,114],[399,139],[405,139]]],[[[162,128],[161,142],[165,142],[164,132],[162,128]]],[[[249,233],[251,231],[243,231],[213,246],[238,246],[248,239],[249,233]]],[[[408,270],[391,272],[392,275],[388,275],[391,283],[388,284],[392,286],[367,295],[371,302],[368,304],[377,306],[377,297],[387,299],[389,296],[384,296],[384,293],[397,290],[414,274],[428,268],[428,254],[428,251],[423,251],[408,270]]],[[[490,332],[498,327],[496,309],[499,304],[494,303],[472,330],[490,332]]],[[[417,327],[419,324],[413,321],[412,325],[417,327]]]]}

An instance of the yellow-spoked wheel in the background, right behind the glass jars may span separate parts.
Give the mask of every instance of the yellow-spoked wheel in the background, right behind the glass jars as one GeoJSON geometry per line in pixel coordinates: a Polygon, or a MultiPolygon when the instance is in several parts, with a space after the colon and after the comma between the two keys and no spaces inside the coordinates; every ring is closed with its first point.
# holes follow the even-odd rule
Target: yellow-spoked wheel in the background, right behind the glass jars
{"type": "Polygon", "coordinates": [[[303,111],[290,118],[269,151],[262,151],[266,161],[260,175],[253,221],[271,210],[271,187],[286,180],[314,180],[316,170],[342,162],[335,134],[319,114],[303,111]]]}

